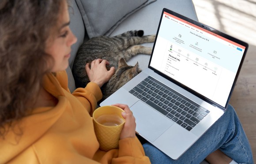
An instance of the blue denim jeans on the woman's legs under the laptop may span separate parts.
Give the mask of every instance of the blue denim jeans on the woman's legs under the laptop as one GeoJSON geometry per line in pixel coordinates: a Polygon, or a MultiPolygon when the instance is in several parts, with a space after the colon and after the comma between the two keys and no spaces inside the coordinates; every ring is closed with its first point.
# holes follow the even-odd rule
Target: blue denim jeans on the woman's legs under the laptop
{"type": "Polygon", "coordinates": [[[220,149],[237,163],[253,164],[252,150],[234,108],[226,112],[179,159],[173,160],[150,143],[143,144],[152,164],[200,164],[207,155],[220,149]]]}

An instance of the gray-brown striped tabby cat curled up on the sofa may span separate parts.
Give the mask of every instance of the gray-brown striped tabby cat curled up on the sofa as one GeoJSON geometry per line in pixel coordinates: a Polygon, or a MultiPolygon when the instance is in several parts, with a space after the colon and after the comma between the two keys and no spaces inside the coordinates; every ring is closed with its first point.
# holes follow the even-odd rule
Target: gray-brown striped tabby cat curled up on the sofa
{"type": "Polygon", "coordinates": [[[95,59],[105,59],[109,61],[107,69],[115,67],[115,74],[109,82],[102,86],[102,100],[105,100],[126,82],[139,74],[138,63],[128,66],[125,62],[137,54],[151,54],[152,48],[139,44],[154,42],[155,35],[143,36],[143,30],[127,31],[123,34],[106,37],[93,37],[84,42],[79,48],[72,68],[76,87],[85,87],[89,81],[85,71],[86,63],[91,63],[95,59]]]}

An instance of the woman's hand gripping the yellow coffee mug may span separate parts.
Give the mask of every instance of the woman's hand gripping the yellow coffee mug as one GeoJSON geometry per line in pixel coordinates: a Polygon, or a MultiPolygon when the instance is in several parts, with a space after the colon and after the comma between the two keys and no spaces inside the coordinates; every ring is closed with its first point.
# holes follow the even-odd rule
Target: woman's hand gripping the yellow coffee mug
{"type": "Polygon", "coordinates": [[[132,115],[132,111],[130,108],[125,104],[113,104],[113,106],[117,106],[124,110],[122,113],[122,116],[125,119],[123,130],[120,134],[120,139],[124,138],[133,138],[135,137],[135,129],[136,129],[136,123],[135,123],[135,117],[132,115]]]}

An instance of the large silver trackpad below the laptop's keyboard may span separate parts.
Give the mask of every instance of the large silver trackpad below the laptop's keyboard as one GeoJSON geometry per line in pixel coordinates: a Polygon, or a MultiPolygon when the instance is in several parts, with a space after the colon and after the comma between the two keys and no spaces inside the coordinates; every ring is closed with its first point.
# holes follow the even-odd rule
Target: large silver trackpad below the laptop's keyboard
{"type": "Polygon", "coordinates": [[[136,119],[136,131],[154,142],[173,122],[141,101],[130,108],[136,119]]]}

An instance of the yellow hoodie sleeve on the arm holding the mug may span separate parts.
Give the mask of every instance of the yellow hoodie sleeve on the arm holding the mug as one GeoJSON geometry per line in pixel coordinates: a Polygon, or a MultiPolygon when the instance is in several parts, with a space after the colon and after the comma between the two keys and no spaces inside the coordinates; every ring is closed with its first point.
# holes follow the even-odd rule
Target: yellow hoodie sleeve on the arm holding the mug
{"type": "Polygon", "coordinates": [[[138,138],[124,138],[119,141],[118,157],[112,159],[112,164],[150,164],[138,138]]]}

